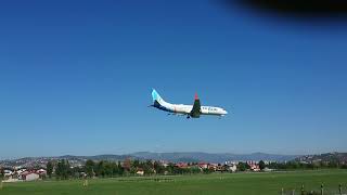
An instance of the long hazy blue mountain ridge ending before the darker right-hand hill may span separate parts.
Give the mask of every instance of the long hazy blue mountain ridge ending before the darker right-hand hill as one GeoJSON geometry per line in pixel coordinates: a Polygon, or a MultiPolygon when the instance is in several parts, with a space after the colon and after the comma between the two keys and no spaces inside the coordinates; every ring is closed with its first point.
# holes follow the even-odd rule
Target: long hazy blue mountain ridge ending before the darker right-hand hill
{"type": "Polygon", "coordinates": [[[25,157],[18,159],[0,160],[0,166],[43,166],[49,160],[67,159],[72,165],[83,165],[86,160],[108,160],[108,161],[123,161],[127,158],[130,159],[153,159],[153,160],[166,160],[171,162],[224,162],[224,161],[237,161],[237,160],[275,160],[285,161],[293,160],[298,156],[294,155],[274,155],[266,153],[253,153],[253,154],[231,154],[231,153],[200,153],[200,152],[182,152],[182,153],[150,153],[139,152],[127,155],[95,155],[95,156],[56,156],[56,157],[25,157]]]}

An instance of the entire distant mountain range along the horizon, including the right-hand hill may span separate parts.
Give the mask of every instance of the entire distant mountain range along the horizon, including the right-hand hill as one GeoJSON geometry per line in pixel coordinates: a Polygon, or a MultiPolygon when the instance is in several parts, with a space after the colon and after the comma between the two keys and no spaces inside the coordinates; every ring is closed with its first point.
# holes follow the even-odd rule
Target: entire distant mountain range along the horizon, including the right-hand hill
{"type": "Polygon", "coordinates": [[[125,159],[139,160],[166,160],[170,162],[224,162],[224,161],[244,161],[244,160],[271,160],[271,161],[305,161],[311,162],[329,162],[336,161],[342,165],[347,165],[347,153],[325,153],[319,155],[277,155],[266,153],[252,154],[231,154],[231,153],[201,153],[201,152],[179,152],[179,153],[150,153],[139,152],[126,155],[95,155],[95,156],[55,156],[55,157],[25,157],[18,159],[0,160],[0,167],[44,167],[49,160],[67,159],[72,166],[82,166],[88,159],[91,160],[108,160],[124,161],[125,159]]]}

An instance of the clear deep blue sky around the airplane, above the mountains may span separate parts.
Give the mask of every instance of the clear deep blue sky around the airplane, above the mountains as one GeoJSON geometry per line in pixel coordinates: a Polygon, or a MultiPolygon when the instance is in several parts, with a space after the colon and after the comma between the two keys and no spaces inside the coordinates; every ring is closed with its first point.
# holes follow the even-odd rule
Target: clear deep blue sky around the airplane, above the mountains
{"type": "Polygon", "coordinates": [[[213,1],[5,1],[0,159],[346,152],[347,28],[213,1]],[[166,101],[222,106],[167,116],[166,101]]]}

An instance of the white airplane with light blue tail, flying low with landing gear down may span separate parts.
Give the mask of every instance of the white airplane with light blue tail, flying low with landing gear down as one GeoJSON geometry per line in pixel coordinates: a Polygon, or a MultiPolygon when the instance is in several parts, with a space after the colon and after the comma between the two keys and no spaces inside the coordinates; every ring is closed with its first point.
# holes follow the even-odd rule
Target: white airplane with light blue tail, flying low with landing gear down
{"type": "Polygon", "coordinates": [[[194,104],[193,105],[184,105],[184,104],[170,104],[165,102],[160,95],[156,92],[155,89],[152,90],[152,99],[153,105],[152,107],[156,107],[164,112],[168,112],[169,115],[181,115],[187,116],[187,118],[200,118],[201,115],[213,115],[222,117],[228,114],[228,112],[221,107],[214,106],[201,106],[200,99],[197,93],[195,93],[194,104]]]}

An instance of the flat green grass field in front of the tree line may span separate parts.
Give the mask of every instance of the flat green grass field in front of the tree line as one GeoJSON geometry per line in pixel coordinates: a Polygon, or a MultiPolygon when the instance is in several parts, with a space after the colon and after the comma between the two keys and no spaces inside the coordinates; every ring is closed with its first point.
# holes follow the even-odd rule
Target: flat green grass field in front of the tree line
{"type": "Polygon", "coordinates": [[[295,188],[299,194],[301,184],[306,190],[320,190],[321,183],[329,193],[338,192],[338,184],[347,194],[347,170],[320,170],[272,173],[214,173],[175,177],[129,177],[89,180],[87,187],[81,180],[37,181],[4,183],[0,194],[9,195],[90,195],[90,194],[129,194],[129,195],[217,195],[217,194],[286,194],[295,188]]]}

